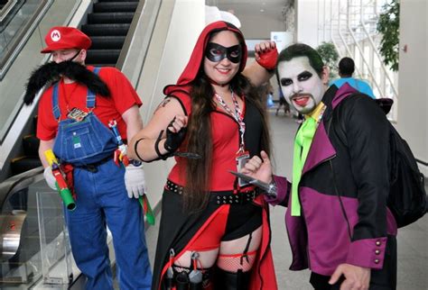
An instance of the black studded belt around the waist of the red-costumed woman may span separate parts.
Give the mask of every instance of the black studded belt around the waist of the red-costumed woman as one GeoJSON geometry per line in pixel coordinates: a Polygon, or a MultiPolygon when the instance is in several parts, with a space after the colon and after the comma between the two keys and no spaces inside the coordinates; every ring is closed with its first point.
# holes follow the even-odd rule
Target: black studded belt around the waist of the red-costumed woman
{"type": "MultiPolygon", "coordinates": [[[[173,183],[171,180],[166,181],[165,189],[174,194],[182,195],[184,188],[173,183]]],[[[253,189],[248,192],[234,193],[233,191],[213,191],[210,192],[209,203],[212,204],[249,204],[256,199],[261,193],[253,189]]]]}

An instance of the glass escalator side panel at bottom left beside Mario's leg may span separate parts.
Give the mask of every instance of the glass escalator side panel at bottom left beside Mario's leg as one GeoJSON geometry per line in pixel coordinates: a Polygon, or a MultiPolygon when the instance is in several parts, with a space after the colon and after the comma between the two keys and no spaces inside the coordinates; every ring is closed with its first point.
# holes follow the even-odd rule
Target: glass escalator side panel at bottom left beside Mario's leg
{"type": "Polygon", "coordinates": [[[62,288],[72,279],[74,261],[60,195],[47,189],[42,175],[34,181],[31,186],[13,189],[3,204],[0,289],[20,289],[40,278],[44,284],[62,288]]]}

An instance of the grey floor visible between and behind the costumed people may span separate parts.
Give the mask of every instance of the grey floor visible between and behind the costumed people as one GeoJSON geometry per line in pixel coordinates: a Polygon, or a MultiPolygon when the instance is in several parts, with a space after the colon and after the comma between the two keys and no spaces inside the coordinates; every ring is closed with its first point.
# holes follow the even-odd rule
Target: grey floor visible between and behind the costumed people
{"type": "MultiPolygon", "coordinates": [[[[298,124],[280,113],[271,112],[271,130],[274,142],[275,173],[291,177],[293,136],[298,124]]],[[[160,216],[156,219],[159,224],[160,216]]],[[[309,271],[293,272],[288,268],[291,252],[284,228],[284,208],[271,211],[272,248],[275,272],[280,289],[312,289],[309,285],[309,271]]],[[[158,228],[147,230],[147,244],[153,265],[158,228]]],[[[428,216],[398,231],[398,286],[399,290],[428,289],[428,216]]]]}

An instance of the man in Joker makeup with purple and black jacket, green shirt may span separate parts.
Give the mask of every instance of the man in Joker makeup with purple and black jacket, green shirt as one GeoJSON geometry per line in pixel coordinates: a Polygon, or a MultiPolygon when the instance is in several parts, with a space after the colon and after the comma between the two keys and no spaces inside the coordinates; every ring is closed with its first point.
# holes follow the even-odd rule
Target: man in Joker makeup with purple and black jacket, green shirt
{"type": "Polygon", "coordinates": [[[291,269],[309,267],[315,289],[395,289],[385,113],[349,85],[324,93],[328,69],[305,44],[280,53],[277,73],[285,99],[305,117],[295,137],[293,184],[272,177],[264,152],[242,172],[274,182],[277,195],[268,202],[288,207],[291,269]]]}

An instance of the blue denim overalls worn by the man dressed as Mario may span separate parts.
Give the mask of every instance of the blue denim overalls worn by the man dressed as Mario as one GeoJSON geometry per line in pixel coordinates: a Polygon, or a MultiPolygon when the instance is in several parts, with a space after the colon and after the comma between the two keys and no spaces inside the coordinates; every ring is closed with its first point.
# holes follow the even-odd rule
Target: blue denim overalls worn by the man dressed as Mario
{"type": "MultiPolygon", "coordinates": [[[[97,69],[97,68],[96,68],[97,69]]],[[[98,69],[94,69],[98,73],[98,69]]],[[[53,86],[53,114],[60,120],[58,83],[53,86]]],[[[96,95],[88,90],[87,107],[96,95]]],[[[116,138],[94,113],[81,122],[60,121],[53,146],[55,155],[74,168],[76,210],[64,210],[73,257],[87,276],[86,289],[113,289],[107,249],[107,229],[112,232],[120,289],[150,289],[152,272],[144,239],[144,216],[136,199],[128,198],[125,168],[116,166],[116,138]],[[111,157],[111,158],[110,158],[111,157]],[[86,166],[96,164],[88,170],[86,166]]]]}

